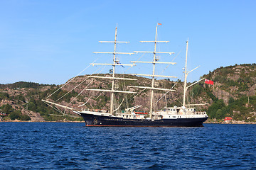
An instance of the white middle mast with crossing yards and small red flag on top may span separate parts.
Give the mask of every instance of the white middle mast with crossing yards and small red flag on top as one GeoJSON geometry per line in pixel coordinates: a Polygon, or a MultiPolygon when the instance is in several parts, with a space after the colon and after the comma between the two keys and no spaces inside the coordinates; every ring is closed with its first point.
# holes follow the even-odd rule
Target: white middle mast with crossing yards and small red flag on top
{"type": "MultiPolygon", "coordinates": [[[[132,74],[132,75],[139,75],[139,76],[149,76],[152,77],[152,81],[151,81],[151,87],[143,87],[143,86],[134,86],[137,88],[144,88],[144,89],[151,89],[151,98],[150,98],[150,118],[152,119],[152,113],[153,113],[153,99],[154,99],[154,90],[164,90],[164,91],[170,91],[169,89],[159,89],[159,88],[155,88],[154,87],[154,78],[155,77],[169,77],[169,78],[176,78],[176,77],[171,77],[171,76],[161,76],[161,75],[155,75],[155,67],[156,67],[156,63],[157,64],[176,64],[176,62],[158,62],[159,61],[159,57],[156,56],[156,54],[169,54],[172,55],[174,54],[174,52],[157,52],[156,51],[156,42],[169,42],[169,41],[158,41],[157,40],[157,27],[158,25],[161,25],[161,23],[157,23],[156,25],[156,35],[155,35],[155,40],[154,41],[140,41],[140,42],[154,42],[154,51],[153,52],[148,52],[148,51],[134,51],[134,52],[142,52],[142,53],[153,53],[154,54],[154,58],[153,58],[153,62],[141,62],[141,63],[152,63],[153,64],[153,73],[150,74],[132,74]]],[[[135,61],[132,61],[133,63],[136,63],[135,61]]]]}

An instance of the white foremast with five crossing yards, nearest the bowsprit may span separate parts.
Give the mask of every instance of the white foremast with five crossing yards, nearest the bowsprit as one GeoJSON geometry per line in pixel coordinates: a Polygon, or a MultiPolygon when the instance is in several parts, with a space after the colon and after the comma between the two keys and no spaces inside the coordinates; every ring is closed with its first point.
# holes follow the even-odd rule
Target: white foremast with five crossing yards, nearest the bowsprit
{"type": "MultiPolygon", "coordinates": [[[[135,92],[132,91],[116,91],[114,90],[114,80],[115,79],[124,79],[124,80],[131,80],[131,79],[126,79],[126,78],[118,78],[118,77],[114,77],[115,74],[115,66],[119,65],[119,66],[134,66],[135,64],[120,64],[119,63],[119,58],[116,57],[116,55],[132,55],[132,52],[117,52],[117,43],[129,43],[126,41],[117,41],[117,27],[115,28],[115,33],[114,33],[114,41],[100,41],[100,42],[112,42],[114,43],[114,52],[94,52],[96,54],[113,54],[113,64],[96,64],[96,63],[92,63],[92,65],[112,65],[112,87],[111,90],[102,90],[102,89],[87,89],[87,90],[91,90],[91,91],[109,91],[110,92],[110,114],[113,114],[113,108],[114,108],[114,93],[132,93],[134,94],[135,92]]],[[[110,77],[96,77],[96,78],[103,78],[103,79],[110,79],[110,77]]],[[[136,79],[132,79],[132,80],[136,80],[136,79]]]]}

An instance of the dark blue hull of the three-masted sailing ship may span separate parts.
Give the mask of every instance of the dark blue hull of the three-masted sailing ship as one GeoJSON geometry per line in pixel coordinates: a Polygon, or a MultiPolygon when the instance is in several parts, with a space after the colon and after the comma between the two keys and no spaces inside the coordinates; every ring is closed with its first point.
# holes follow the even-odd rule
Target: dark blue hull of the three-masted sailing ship
{"type": "Polygon", "coordinates": [[[161,119],[161,120],[146,120],[146,119],[124,119],[102,115],[92,115],[80,113],[85,120],[86,126],[177,126],[177,127],[201,127],[206,118],[178,118],[178,119],[161,119]]]}

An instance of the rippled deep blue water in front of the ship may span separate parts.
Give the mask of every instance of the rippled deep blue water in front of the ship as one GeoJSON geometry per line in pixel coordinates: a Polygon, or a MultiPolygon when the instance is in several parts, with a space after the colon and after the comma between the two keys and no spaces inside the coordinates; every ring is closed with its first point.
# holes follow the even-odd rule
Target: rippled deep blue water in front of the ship
{"type": "Polygon", "coordinates": [[[256,125],[0,123],[0,169],[256,169],[256,125]]]}

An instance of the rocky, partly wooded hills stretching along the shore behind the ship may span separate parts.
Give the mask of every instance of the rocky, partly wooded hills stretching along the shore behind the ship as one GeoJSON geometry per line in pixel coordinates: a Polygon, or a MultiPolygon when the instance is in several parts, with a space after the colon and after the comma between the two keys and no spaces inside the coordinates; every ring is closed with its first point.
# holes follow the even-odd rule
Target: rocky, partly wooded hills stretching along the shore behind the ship
{"type": "MultiPolygon", "coordinates": [[[[110,77],[111,74],[98,74],[97,76],[110,77]]],[[[149,90],[136,89],[129,86],[150,86],[151,80],[144,77],[117,74],[117,77],[137,79],[137,81],[116,81],[115,88],[119,90],[136,91],[137,94],[117,94],[114,107],[120,103],[120,110],[142,105],[139,111],[149,111],[149,90]]],[[[187,103],[209,103],[198,108],[208,111],[211,119],[223,120],[230,116],[233,120],[253,122],[256,117],[256,64],[241,64],[229,67],[220,67],[209,74],[203,75],[214,81],[213,86],[204,84],[203,81],[188,89],[187,103]]],[[[71,80],[71,79],[70,79],[71,80]]],[[[69,81],[70,81],[69,80],[69,81]]],[[[170,89],[176,82],[169,79],[157,80],[156,87],[170,89]]],[[[55,121],[55,120],[82,120],[65,112],[65,117],[56,108],[51,108],[41,99],[56,101],[65,106],[71,106],[79,110],[84,108],[105,109],[110,106],[110,94],[99,91],[87,91],[85,89],[111,89],[110,79],[92,79],[87,75],[75,77],[70,83],[63,86],[36,84],[31,82],[17,82],[15,84],[0,84],[0,113],[7,113],[4,120],[32,120],[32,121],[55,121]],[[87,103],[86,103],[87,102],[87,103]],[[85,104],[86,103],[86,104],[85,104]],[[85,105],[84,105],[85,104],[85,105]],[[82,107],[79,107],[84,105],[82,107]]],[[[175,92],[156,91],[154,109],[158,110],[165,106],[181,106],[183,96],[183,82],[174,86],[175,92]],[[159,101],[159,99],[161,100],[159,101]],[[157,102],[159,101],[159,102],[157,102]]]]}

